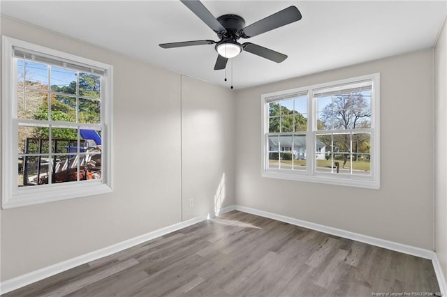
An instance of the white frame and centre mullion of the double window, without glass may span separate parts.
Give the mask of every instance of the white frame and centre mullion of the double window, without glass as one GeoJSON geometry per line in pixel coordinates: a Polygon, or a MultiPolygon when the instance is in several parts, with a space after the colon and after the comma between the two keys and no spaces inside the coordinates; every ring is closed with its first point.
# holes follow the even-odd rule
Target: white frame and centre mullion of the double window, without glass
{"type": "MultiPolygon", "coordinates": [[[[312,183],[327,183],[330,185],[344,185],[357,188],[380,188],[380,74],[362,75],[348,79],[341,79],[334,82],[314,84],[298,89],[265,93],[261,96],[261,176],[266,178],[280,178],[293,181],[305,181],[312,183]],[[314,93],[318,89],[326,89],[331,86],[339,87],[344,84],[355,84],[365,80],[372,80],[371,98],[371,174],[368,176],[354,174],[333,174],[316,172],[316,119],[317,119],[317,98],[314,93]],[[306,169],[269,169],[268,168],[268,125],[269,125],[269,101],[271,98],[288,97],[293,93],[307,92],[307,131],[291,132],[288,134],[306,135],[306,169]]],[[[346,132],[349,130],[346,130],[346,132]]],[[[343,131],[339,131],[343,132],[343,131]]]]}

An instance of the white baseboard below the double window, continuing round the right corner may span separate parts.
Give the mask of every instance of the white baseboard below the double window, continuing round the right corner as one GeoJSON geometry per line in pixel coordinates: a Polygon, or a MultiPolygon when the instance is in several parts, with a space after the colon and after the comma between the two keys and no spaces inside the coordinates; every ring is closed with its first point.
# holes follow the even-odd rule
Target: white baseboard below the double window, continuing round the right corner
{"type": "Polygon", "coordinates": [[[386,241],[385,239],[375,238],[372,236],[366,236],[351,231],[346,231],[343,229],[337,229],[334,227],[328,227],[322,224],[315,224],[313,222],[307,222],[304,220],[298,220],[295,218],[286,217],[285,215],[277,215],[276,213],[269,213],[268,211],[259,211],[255,208],[250,208],[246,206],[235,206],[236,211],[243,211],[244,213],[251,213],[253,215],[259,215],[264,218],[270,218],[272,220],[278,220],[281,222],[286,222],[288,224],[294,224],[296,226],[305,227],[307,229],[312,229],[320,231],[326,234],[332,234],[335,236],[340,236],[343,238],[349,238],[353,241],[360,241],[362,243],[367,243],[369,245],[375,245],[380,248],[386,248],[388,250],[394,250],[396,252],[402,252],[404,254],[411,254],[412,256],[421,257],[424,259],[432,260],[434,273],[439,284],[439,290],[442,296],[447,296],[447,285],[446,279],[444,278],[444,273],[442,272],[441,265],[439,264],[437,255],[432,250],[425,250],[423,248],[416,248],[411,245],[404,245],[402,243],[395,243],[393,241],[386,241]]]}

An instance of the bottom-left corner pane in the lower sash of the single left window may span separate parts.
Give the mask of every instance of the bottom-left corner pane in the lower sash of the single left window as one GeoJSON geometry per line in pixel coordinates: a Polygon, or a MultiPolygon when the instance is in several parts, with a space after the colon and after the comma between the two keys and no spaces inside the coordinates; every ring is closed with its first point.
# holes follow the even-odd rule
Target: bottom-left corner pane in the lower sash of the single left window
{"type": "Polygon", "coordinates": [[[45,185],[48,183],[50,156],[23,157],[23,171],[19,172],[19,185],[45,185]]]}

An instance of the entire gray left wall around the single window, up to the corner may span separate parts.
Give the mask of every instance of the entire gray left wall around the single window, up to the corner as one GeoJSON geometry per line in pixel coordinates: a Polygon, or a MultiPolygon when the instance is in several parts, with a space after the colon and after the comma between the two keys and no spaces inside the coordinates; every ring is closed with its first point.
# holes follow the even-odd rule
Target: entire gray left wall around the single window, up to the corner
{"type": "Polygon", "coordinates": [[[223,173],[219,205],[235,203],[233,162],[223,162],[235,135],[229,90],[6,17],[1,34],[111,64],[115,98],[114,192],[1,210],[1,280],[213,213],[223,173]]]}

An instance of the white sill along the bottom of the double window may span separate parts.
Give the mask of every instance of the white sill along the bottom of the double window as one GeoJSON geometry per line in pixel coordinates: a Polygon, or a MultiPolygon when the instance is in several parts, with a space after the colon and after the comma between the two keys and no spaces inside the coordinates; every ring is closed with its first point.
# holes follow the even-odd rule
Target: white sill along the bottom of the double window
{"type": "Polygon", "coordinates": [[[380,182],[377,178],[374,180],[370,176],[334,176],[334,174],[318,173],[314,176],[309,176],[306,172],[279,172],[279,171],[264,171],[261,174],[265,178],[278,178],[289,181],[304,181],[309,183],[325,183],[328,185],[342,185],[354,188],[380,189],[380,182]]]}

